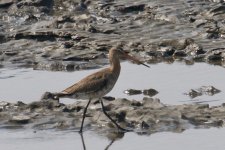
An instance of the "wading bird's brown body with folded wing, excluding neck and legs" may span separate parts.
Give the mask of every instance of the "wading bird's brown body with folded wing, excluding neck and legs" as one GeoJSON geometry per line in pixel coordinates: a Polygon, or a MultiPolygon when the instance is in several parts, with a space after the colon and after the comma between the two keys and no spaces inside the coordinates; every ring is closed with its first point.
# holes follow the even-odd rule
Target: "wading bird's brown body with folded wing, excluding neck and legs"
{"type": "Polygon", "coordinates": [[[119,76],[119,72],[112,72],[110,68],[91,74],[76,84],[58,93],[58,97],[75,99],[94,99],[106,95],[112,90],[119,76]]]}

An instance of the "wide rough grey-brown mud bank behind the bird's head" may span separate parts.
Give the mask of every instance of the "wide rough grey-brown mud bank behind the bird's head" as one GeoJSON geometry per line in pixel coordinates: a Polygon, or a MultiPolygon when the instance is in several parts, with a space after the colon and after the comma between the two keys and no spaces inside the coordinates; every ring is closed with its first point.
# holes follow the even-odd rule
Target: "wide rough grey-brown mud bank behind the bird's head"
{"type": "Polygon", "coordinates": [[[224,66],[223,0],[4,0],[0,8],[1,66],[98,68],[121,41],[148,63],[224,66]]]}

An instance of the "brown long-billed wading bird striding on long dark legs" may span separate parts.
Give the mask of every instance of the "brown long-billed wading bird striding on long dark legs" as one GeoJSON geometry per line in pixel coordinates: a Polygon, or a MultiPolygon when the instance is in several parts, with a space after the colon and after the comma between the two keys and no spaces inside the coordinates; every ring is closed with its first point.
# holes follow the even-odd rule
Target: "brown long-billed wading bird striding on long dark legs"
{"type": "Polygon", "coordinates": [[[125,51],[121,49],[120,46],[113,47],[109,50],[109,61],[110,67],[102,69],[98,72],[95,72],[84,79],[80,80],[76,84],[68,87],[60,93],[54,93],[53,95],[57,98],[74,98],[74,99],[86,99],[89,100],[87,106],[84,109],[82,124],[80,127],[80,133],[83,130],[83,123],[86,115],[87,108],[92,99],[100,99],[102,110],[104,114],[118,127],[118,129],[123,131],[128,131],[120,127],[105,111],[105,107],[103,105],[102,97],[109,93],[114,87],[119,74],[120,74],[120,58],[126,58],[132,60],[138,64],[142,64],[146,67],[141,61],[136,58],[128,55],[125,51]]]}

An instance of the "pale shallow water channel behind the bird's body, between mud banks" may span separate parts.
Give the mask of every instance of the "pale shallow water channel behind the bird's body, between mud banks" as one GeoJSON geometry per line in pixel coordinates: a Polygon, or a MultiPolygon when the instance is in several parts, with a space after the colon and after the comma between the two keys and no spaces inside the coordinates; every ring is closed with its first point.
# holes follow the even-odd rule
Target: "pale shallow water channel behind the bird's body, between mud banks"
{"type": "MultiPolygon", "coordinates": [[[[39,100],[46,91],[56,92],[79,81],[84,76],[97,70],[76,72],[48,72],[32,69],[1,69],[0,70],[0,100],[9,102],[32,102],[39,100]]],[[[144,95],[129,96],[124,91],[133,89],[154,88],[159,91],[155,97],[165,104],[183,104],[206,101],[211,105],[225,102],[225,69],[220,66],[195,63],[185,65],[181,62],[173,64],[159,63],[151,68],[122,63],[122,71],[114,89],[108,94],[118,98],[141,100],[144,95]],[[191,99],[185,95],[190,89],[212,85],[220,93],[213,96],[203,95],[191,99]]],[[[74,100],[64,99],[64,103],[73,103],[74,100]]]]}

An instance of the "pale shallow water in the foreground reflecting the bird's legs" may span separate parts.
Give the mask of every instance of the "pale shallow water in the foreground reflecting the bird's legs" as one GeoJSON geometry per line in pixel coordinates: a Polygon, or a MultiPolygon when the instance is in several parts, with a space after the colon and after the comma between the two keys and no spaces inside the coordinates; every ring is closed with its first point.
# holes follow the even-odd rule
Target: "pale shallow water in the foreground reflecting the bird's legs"
{"type": "MultiPolygon", "coordinates": [[[[73,131],[38,131],[32,130],[1,131],[0,146],[4,150],[73,150],[83,149],[81,136],[73,131]],[[15,136],[16,135],[16,136],[15,136]]],[[[225,129],[191,129],[183,133],[156,133],[140,136],[126,133],[120,140],[111,140],[87,131],[83,134],[87,150],[101,149],[154,149],[154,150],[224,150],[225,129]],[[111,144],[112,143],[112,144],[111,144]],[[111,145],[110,145],[111,144],[111,145]]]]}

